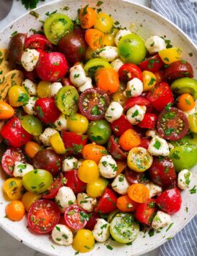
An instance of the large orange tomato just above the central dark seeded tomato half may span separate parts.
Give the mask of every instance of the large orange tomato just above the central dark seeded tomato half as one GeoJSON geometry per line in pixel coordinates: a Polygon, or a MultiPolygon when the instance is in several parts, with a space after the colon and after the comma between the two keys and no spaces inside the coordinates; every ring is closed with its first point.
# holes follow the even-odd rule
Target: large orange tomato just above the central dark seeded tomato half
{"type": "Polygon", "coordinates": [[[95,73],[96,86],[108,94],[119,90],[119,75],[114,68],[101,68],[95,73]]]}

